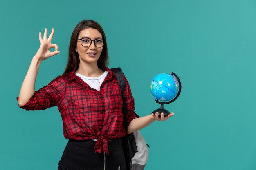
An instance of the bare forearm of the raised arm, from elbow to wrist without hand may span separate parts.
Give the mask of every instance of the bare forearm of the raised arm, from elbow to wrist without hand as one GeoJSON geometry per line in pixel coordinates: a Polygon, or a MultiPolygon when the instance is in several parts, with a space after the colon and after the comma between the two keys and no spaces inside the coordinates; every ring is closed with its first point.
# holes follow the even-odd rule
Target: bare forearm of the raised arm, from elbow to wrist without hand
{"type": "Polygon", "coordinates": [[[41,60],[35,55],[20,88],[18,105],[24,106],[35,93],[36,76],[41,60]]]}

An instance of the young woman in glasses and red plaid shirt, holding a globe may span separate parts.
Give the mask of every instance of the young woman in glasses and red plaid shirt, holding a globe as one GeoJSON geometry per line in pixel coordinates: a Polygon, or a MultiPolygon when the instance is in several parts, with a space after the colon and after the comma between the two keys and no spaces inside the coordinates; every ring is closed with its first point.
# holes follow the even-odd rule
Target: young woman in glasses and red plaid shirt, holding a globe
{"type": "Polygon", "coordinates": [[[164,117],[153,113],[135,119],[134,99],[126,82],[128,129],[122,125],[121,89],[115,74],[107,67],[108,49],[101,26],[93,20],[76,25],[70,39],[68,63],[63,75],[35,91],[36,76],[41,62],[60,53],[52,44],[54,29],[47,38],[39,33],[40,48],[33,57],[22,83],[20,108],[45,110],[58,106],[63,120],[63,133],[69,139],[59,162],[58,170],[126,170],[121,137],[140,130],[164,117]],[[49,49],[55,48],[54,52],[49,49]]]}

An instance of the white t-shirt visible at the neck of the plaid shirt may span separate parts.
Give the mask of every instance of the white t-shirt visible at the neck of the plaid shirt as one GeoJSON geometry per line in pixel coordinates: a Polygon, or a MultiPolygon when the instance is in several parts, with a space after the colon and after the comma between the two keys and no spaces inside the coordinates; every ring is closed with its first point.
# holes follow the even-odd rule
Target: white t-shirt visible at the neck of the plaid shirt
{"type": "Polygon", "coordinates": [[[81,79],[83,79],[83,81],[85,81],[85,83],[87,83],[91,88],[94,88],[97,91],[99,91],[101,88],[102,82],[104,81],[105,77],[108,75],[108,71],[105,70],[103,75],[101,75],[99,77],[86,77],[86,76],[81,75],[76,72],[75,72],[75,74],[77,76],[81,77],[81,79]]]}

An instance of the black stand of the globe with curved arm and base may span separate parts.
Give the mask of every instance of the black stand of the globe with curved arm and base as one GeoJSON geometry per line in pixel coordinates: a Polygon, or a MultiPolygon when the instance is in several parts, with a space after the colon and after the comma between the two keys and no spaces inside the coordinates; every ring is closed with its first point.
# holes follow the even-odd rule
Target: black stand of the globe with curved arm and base
{"type": "Polygon", "coordinates": [[[158,112],[159,113],[158,117],[161,117],[162,112],[164,113],[164,117],[171,114],[168,110],[164,109],[164,104],[169,104],[171,102],[174,102],[179,97],[180,92],[181,92],[181,82],[180,82],[179,77],[177,75],[175,75],[175,73],[173,73],[173,72],[171,73],[171,75],[173,75],[177,79],[177,82],[179,84],[179,90],[177,92],[177,95],[168,102],[160,102],[158,99],[155,99],[155,102],[161,104],[161,107],[158,108],[157,110],[154,110],[152,113],[155,114],[158,112]]]}

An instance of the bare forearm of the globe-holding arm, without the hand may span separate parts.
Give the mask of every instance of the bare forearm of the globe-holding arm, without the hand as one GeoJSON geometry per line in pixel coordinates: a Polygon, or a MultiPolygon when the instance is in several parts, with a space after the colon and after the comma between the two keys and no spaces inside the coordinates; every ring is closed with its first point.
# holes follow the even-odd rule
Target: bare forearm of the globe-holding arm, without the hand
{"type": "Polygon", "coordinates": [[[155,120],[156,119],[152,115],[133,119],[128,126],[127,133],[130,134],[132,132],[145,128],[155,120]]]}

